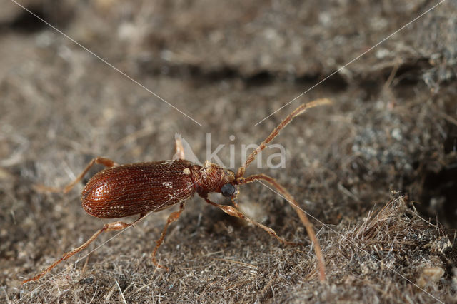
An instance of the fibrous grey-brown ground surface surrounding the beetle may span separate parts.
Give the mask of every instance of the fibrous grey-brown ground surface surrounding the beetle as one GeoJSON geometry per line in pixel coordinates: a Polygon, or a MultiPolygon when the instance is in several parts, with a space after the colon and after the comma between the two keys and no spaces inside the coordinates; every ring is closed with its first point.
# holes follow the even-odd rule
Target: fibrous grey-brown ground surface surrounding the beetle
{"type": "Polygon", "coordinates": [[[19,3],[68,36],[1,1],[1,302],[457,300],[456,1],[404,28],[438,1],[19,3]],[[150,254],[176,207],[21,285],[110,222],[81,208],[84,183],[66,195],[34,185],[64,186],[95,156],[170,159],[176,132],[201,161],[224,144],[218,156],[236,170],[241,145],[315,98],[333,105],[273,142],[285,168],[266,166],[267,149],[248,173],[277,178],[313,216],[325,283],[293,208],[254,183],[241,188],[241,210],[305,246],[195,196],[159,249],[169,272],[150,254]]]}

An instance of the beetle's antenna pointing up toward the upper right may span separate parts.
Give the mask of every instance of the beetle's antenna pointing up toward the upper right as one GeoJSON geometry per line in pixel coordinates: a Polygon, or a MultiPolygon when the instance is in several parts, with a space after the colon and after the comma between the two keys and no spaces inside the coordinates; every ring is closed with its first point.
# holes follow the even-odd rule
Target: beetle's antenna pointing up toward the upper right
{"type": "Polygon", "coordinates": [[[293,118],[296,116],[300,115],[304,111],[308,110],[308,108],[314,108],[315,106],[323,106],[325,104],[331,104],[333,103],[330,99],[328,98],[321,98],[321,99],[316,99],[315,101],[311,101],[308,103],[303,103],[301,106],[296,108],[292,113],[290,113],[286,118],[284,118],[279,125],[274,128],[274,130],[271,132],[271,134],[263,141],[260,146],[256,148],[256,150],[252,151],[252,153],[248,156],[246,159],[246,162],[244,163],[243,166],[238,168],[238,173],[236,173],[236,178],[240,178],[244,175],[244,172],[246,171],[246,168],[251,164],[257,157],[258,153],[260,153],[264,148],[266,148],[266,144],[269,143],[270,141],[273,141],[273,138],[279,135],[279,131],[283,129],[285,126],[288,125],[292,121],[293,118]]]}

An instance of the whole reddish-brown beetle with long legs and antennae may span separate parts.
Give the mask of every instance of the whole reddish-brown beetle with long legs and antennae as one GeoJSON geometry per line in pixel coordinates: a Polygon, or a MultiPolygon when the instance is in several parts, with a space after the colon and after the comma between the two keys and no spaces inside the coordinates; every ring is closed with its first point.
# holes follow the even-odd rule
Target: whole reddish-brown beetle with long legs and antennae
{"type": "Polygon", "coordinates": [[[184,211],[185,201],[191,198],[191,196],[194,196],[195,193],[201,196],[201,198],[204,198],[207,203],[220,208],[230,216],[242,218],[259,228],[262,228],[283,244],[302,245],[301,243],[292,243],[287,240],[283,240],[283,238],[279,237],[273,229],[253,221],[251,218],[248,218],[238,210],[238,203],[236,202],[236,198],[238,196],[238,186],[245,183],[251,183],[253,181],[266,181],[273,186],[273,188],[276,188],[276,191],[278,191],[283,198],[291,203],[291,206],[301,219],[301,222],[305,226],[306,232],[313,243],[313,248],[317,258],[319,278],[320,280],[325,280],[325,266],[321,246],[318,243],[313,225],[308,220],[306,213],[304,213],[298,206],[298,203],[286,190],[286,188],[283,188],[283,186],[281,186],[271,176],[266,176],[265,174],[254,174],[244,177],[244,173],[246,172],[246,168],[249,164],[256,159],[258,153],[266,148],[266,144],[278,136],[279,131],[287,126],[293,118],[300,115],[308,108],[329,103],[331,103],[329,99],[323,98],[309,103],[303,103],[301,106],[296,108],[296,110],[281,121],[281,123],[279,123],[271,134],[260,144],[260,146],[258,146],[256,150],[248,156],[246,162],[243,166],[238,168],[236,173],[221,168],[210,161],[206,161],[204,166],[199,166],[196,163],[186,161],[181,138],[176,137],[176,153],[172,160],[119,165],[114,161],[111,161],[109,158],[97,157],[94,158],[86,166],[84,171],[65,188],[60,189],[40,186],[39,189],[41,191],[68,193],[72,188],[74,188],[76,183],[79,183],[79,181],[84,178],[84,175],[87,171],[89,171],[91,166],[95,163],[99,163],[107,168],[99,171],[99,173],[96,173],[96,175],[89,180],[81,193],[81,203],[86,213],[89,213],[91,216],[95,216],[97,218],[123,218],[125,216],[134,215],[139,215],[139,218],[132,223],[116,221],[104,224],[103,228],[94,233],[94,235],[92,235],[86,243],[69,251],[68,253],[64,253],[62,258],[56,260],[56,262],[33,278],[24,280],[23,284],[29,281],[38,280],[63,260],[66,260],[76,253],[79,253],[81,250],[84,250],[84,248],[92,243],[101,233],[105,231],[123,230],[130,226],[134,226],[151,212],[161,211],[179,204],[179,211],[175,211],[170,214],[161,232],[161,236],[156,242],[156,247],[151,254],[152,261],[156,267],[168,270],[166,266],[160,265],[157,262],[157,250],[165,238],[167,228],[171,223],[179,218],[182,211],[184,211]],[[208,198],[208,194],[212,192],[221,193],[223,196],[231,198],[233,206],[221,205],[211,201],[208,198]]]}

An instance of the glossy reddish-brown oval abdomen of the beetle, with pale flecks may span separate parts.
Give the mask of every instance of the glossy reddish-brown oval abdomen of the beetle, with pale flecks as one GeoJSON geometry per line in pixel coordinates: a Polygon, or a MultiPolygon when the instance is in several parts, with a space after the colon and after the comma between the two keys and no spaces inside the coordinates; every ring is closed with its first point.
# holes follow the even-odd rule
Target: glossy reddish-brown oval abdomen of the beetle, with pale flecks
{"type": "Polygon", "coordinates": [[[186,200],[195,192],[184,160],[132,163],[106,168],[86,184],[81,201],[97,218],[122,218],[161,211],[186,200]]]}

